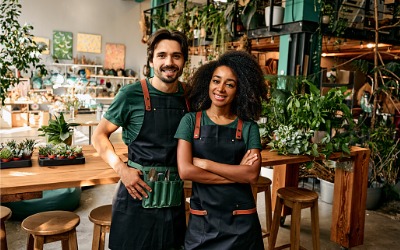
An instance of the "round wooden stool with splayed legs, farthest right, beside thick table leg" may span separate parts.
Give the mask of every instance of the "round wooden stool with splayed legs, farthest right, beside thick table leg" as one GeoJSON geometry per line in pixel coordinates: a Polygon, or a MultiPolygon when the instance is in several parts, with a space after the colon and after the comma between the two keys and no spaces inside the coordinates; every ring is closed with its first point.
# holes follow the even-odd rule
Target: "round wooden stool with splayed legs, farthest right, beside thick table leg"
{"type": "Polygon", "coordinates": [[[301,209],[311,208],[311,229],[313,249],[319,250],[319,219],[318,219],[318,194],[314,191],[298,188],[284,187],[277,191],[274,219],[271,227],[271,237],[269,237],[268,249],[283,249],[290,246],[290,249],[304,249],[300,246],[300,219],[301,209]],[[292,219],[290,226],[290,244],[275,248],[278,236],[279,224],[283,205],[292,209],[292,219]]]}

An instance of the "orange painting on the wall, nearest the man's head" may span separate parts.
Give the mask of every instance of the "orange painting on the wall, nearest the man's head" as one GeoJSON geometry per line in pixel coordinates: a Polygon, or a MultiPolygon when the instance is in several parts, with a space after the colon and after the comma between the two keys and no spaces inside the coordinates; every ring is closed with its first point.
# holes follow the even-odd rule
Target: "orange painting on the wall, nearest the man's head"
{"type": "Polygon", "coordinates": [[[125,45],[124,44],[106,43],[104,68],[115,69],[115,70],[125,68],[125,45]]]}

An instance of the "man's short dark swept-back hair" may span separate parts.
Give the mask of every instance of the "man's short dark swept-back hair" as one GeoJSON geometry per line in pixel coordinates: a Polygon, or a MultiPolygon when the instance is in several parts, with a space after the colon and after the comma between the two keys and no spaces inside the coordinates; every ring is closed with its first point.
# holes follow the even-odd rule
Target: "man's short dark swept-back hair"
{"type": "Polygon", "coordinates": [[[147,63],[153,62],[154,48],[162,40],[177,41],[181,45],[185,62],[188,60],[189,46],[185,34],[177,30],[159,29],[147,41],[147,63]]]}

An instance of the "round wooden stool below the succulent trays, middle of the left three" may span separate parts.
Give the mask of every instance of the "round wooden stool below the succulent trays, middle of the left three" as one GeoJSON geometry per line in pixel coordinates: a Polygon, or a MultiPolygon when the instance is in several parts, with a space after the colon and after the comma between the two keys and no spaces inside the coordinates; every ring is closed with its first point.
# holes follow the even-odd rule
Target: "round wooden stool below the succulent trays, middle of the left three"
{"type": "Polygon", "coordinates": [[[49,211],[27,217],[21,227],[28,232],[26,249],[43,249],[43,245],[61,241],[63,250],[77,250],[76,227],[80,218],[73,212],[49,211]]]}

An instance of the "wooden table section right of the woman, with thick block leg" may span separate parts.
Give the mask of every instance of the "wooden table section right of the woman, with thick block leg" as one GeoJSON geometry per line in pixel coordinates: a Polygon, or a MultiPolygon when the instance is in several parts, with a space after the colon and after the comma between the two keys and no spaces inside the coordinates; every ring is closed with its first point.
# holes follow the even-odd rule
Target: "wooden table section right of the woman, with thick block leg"
{"type": "MultiPolygon", "coordinates": [[[[352,147],[352,169],[336,168],[335,189],[332,205],[331,240],[342,247],[350,248],[364,242],[365,205],[367,199],[368,149],[352,147]]],[[[276,191],[285,186],[298,186],[299,166],[312,161],[308,156],[284,156],[276,152],[261,152],[262,166],[273,166],[272,203],[276,191]]],[[[339,159],[336,153],[331,159],[339,159]]],[[[288,210],[284,210],[284,215],[288,210]]]]}

